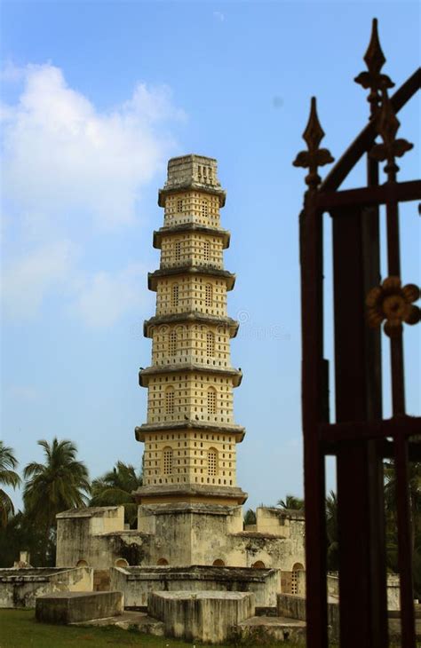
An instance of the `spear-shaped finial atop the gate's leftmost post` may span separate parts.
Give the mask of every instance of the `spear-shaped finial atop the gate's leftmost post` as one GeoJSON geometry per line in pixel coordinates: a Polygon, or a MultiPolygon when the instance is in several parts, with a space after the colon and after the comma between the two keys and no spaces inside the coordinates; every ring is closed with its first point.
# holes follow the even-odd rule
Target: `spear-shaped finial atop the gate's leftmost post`
{"type": "Polygon", "coordinates": [[[303,133],[303,139],[306,142],[308,151],[300,151],[294,162],[292,162],[295,167],[308,168],[306,185],[308,185],[309,189],[316,189],[320,184],[322,178],[317,172],[318,167],[334,161],[327,148],[319,148],[322,138],[324,138],[324,130],[317,115],[316,98],[312,97],[310,115],[306,130],[303,133]]]}

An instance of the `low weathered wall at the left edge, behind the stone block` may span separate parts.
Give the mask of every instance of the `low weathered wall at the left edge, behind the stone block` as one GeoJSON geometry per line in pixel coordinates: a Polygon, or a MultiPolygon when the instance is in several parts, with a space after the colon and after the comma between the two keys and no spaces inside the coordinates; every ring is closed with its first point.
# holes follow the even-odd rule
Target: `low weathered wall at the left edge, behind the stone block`
{"type": "Polygon", "coordinates": [[[91,591],[92,570],[88,567],[0,569],[0,608],[35,607],[36,597],[53,592],[91,591]]]}

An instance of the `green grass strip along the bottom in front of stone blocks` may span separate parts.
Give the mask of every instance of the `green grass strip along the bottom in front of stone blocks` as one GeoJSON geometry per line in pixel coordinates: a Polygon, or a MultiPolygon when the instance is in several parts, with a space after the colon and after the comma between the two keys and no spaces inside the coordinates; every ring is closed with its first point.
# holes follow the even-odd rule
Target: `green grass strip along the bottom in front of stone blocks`
{"type": "MultiPolygon", "coordinates": [[[[197,648],[211,648],[195,642],[197,648]]],[[[291,644],[274,644],[277,648],[291,644]]],[[[192,648],[176,639],[141,635],[120,628],[52,626],[38,623],[34,610],[0,610],[0,648],[109,648],[110,646],[139,646],[139,648],[192,648]]],[[[214,647],[213,647],[214,648],[214,647]]],[[[233,645],[219,645],[233,648],[233,645]]],[[[266,648],[270,646],[266,645],[266,648]]],[[[298,648],[298,647],[296,647],[298,648]]]]}

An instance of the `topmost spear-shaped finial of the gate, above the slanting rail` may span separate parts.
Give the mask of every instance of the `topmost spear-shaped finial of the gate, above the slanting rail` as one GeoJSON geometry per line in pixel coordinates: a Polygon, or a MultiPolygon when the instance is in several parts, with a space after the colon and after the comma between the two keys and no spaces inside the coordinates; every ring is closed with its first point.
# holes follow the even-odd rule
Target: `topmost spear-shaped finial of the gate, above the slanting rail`
{"type": "Polygon", "coordinates": [[[363,88],[370,89],[367,101],[369,101],[371,117],[373,117],[376,115],[378,105],[381,101],[381,91],[387,88],[393,88],[394,85],[389,76],[381,74],[381,69],[385,65],[386,59],[378,38],[377,18],[373,18],[369,47],[364,54],[364,61],[369,71],[361,72],[354,78],[354,81],[355,83],[360,83],[363,88]]]}

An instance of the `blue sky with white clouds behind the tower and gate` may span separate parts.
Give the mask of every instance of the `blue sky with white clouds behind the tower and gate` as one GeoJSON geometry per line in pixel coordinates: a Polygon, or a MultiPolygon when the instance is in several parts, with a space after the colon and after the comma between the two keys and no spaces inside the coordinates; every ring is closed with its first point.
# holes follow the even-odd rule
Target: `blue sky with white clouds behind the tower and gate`
{"type": "MultiPolygon", "coordinates": [[[[247,428],[238,483],[250,506],[301,494],[304,173],[291,162],[313,94],[334,157],[365,125],[353,77],[373,17],[397,86],[419,65],[419,5],[92,0],[3,2],[1,12],[6,444],[21,467],[41,459],[37,439],[55,435],[75,440],[92,478],[117,459],[140,465],[133,429],[146,420],[137,372],[151,352],[142,321],[155,309],[157,191],[169,157],[205,154],[227,191],[226,268],[237,274],[228,304],[242,321],[232,344],[244,373],[235,419],[247,428]]],[[[416,145],[401,179],[419,172],[418,115],[417,101],[401,112],[401,137],[416,145]]],[[[361,178],[356,170],[348,186],[361,178]]],[[[405,206],[404,282],[419,281],[417,226],[405,206]]],[[[328,240],[329,230],[327,220],[328,240]]],[[[325,273],[329,294],[329,254],[325,273]]],[[[410,413],[417,343],[419,327],[407,335],[410,413]]],[[[386,367],[385,353],[387,384],[386,367]]]]}

